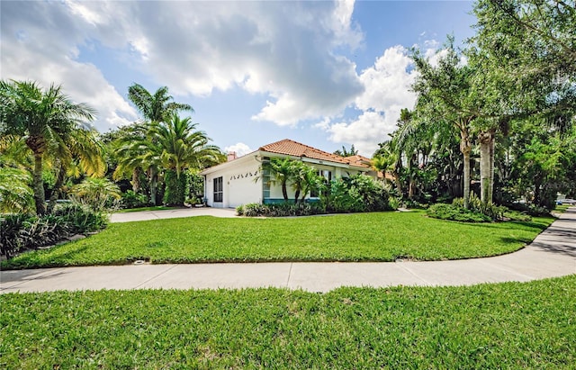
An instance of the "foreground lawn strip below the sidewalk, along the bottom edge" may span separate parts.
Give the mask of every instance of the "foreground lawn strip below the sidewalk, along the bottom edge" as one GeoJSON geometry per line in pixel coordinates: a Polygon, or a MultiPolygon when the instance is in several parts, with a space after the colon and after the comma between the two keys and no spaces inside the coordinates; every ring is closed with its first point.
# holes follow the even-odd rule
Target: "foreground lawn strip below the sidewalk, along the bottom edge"
{"type": "Polygon", "coordinates": [[[576,275],[330,293],[0,296],[0,367],[482,368],[576,364],[576,275]]]}

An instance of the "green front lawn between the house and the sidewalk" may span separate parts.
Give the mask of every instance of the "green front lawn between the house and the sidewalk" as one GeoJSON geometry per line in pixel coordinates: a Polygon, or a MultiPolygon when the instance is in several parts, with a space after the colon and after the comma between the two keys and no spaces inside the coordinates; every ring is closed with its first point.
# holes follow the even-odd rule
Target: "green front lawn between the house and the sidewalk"
{"type": "Polygon", "coordinates": [[[469,224],[423,212],[288,219],[210,216],[112,223],[86,239],[24,253],[3,268],[247,261],[393,261],[486,257],[522,248],[554,219],[469,224]]]}

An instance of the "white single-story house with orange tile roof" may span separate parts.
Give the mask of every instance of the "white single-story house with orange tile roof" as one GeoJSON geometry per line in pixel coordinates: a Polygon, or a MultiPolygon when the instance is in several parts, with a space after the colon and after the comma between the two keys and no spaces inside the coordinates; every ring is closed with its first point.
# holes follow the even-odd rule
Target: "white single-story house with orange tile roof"
{"type": "MultiPolygon", "coordinates": [[[[362,156],[340,157],[293,140],[280,140],[260,147],[243,157],[229,153],[228,161],[204,169],[204,198],[211,207],[235,208],[247,203],[284,202],[280,185],[271,185],[261,174],[262,163],[270,158],[292,158],[318,169],[328,181],[363,173],[376,177],[370,159],[362,156]]],[[[293,189],[288,187],[293,199],[293,189]]],[[[309,199],[310,194],[307,194],[309,199]]]]}

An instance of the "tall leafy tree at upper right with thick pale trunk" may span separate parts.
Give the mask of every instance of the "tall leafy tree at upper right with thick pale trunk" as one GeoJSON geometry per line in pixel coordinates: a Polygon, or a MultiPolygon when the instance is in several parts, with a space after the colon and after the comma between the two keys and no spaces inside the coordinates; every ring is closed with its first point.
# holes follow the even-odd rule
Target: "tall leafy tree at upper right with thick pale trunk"
{"type": "MultiPolygon", "coordinates": [[[[482,153],[494,153],[494,132],[513,119],[540,116],[567,131],[576,113],[576,4],[563,0],[480,0],[470,41],[476,86],[483,90],[482,153]]],[[[481,156],[482,158],[483,156],[481,156]]],[[[482,163],[482,197],[491,197],[493,159],[482,163]]]]}

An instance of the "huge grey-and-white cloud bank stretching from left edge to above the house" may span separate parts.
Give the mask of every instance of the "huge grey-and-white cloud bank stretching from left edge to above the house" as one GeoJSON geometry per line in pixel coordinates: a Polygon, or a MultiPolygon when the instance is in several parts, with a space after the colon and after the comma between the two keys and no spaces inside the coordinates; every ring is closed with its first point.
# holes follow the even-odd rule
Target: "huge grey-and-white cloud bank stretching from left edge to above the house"
{"type": "Polygon", "coordinates": [[[235,86],[265,95],[268,102],[253,119],[279,125],[338,115],[363,91],[356,65],[335,51],[355,50],[364,39],[352,23],[353,0],[66,0],[2,7],[3,77],[58,81],[70,95],[82,92],[101,111],[102,126],[135,113],[101,71],[79,60],[90,45],[130,60],[174,95],[206,96],[235,86]],[[26,42],[17,45],[18,37],[26,42]]]}

